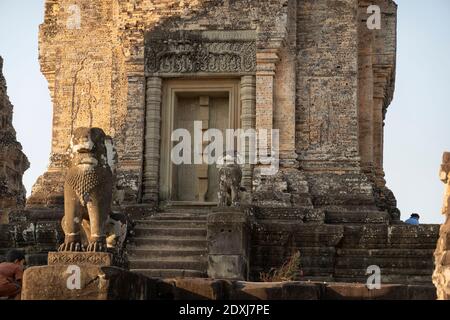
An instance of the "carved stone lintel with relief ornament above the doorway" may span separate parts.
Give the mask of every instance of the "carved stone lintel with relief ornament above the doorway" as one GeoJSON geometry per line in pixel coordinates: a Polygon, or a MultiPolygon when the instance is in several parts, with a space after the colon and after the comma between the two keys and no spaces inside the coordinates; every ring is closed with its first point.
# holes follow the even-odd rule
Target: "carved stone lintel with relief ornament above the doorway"
{"type": "Polygon", "coordinates": [[[256,71],[256,43],[173,40],[146,46],[146,71],[153,73],[250,73],[256,71]]]}

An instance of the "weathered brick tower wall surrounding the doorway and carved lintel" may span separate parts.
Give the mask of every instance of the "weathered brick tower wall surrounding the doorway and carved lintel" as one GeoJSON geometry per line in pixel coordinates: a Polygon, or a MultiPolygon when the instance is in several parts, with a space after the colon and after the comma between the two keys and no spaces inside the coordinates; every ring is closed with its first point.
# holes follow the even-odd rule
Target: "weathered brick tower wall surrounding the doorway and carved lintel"
{"type": "Polygon", "coordinates": [[[282,206],[298,204],[298,196],[292,196],[297,192],[311,193],[316,206],[373,209],[374,181],[380,181],[380,188],[384,183],[382,119],[392,99],[395,70],[396,6],[388,0],[377,2],[383,27],[368,32],[360,22],[366,3],[357,0],[333,6],[324,0],[47,0],[40,62],[54,103],[53,144],[49,171],[36,183],[29,204],[61,204],[61,172],[77,126],[100,126],[114,138],[119,154],[117,202],[139,203],[143,197],[157,201],[157,172],[146,170],[155,170],[158,160],[152,154],[159,150],[148,146],[160,141],[154,134],[159,128],[149,122],[149,117],[157,121],[159,91],[149,91],[149,83],[162,86],[170,77],[243,74],[152,73],[146,67],[152,44],[146,43],[182,38],[183,32],[203,32],[210,39],[253,32],[254,126],[280,129],[282,165],[273,181],[260,179],[255,171],[255,190],[270,197],[281,194],[277,205],[282,206]],[[80,9],[80,29],[68,28],[74,15],[70,5],[80,9]],[[305,177],[292,174],[299,164],[305,177]],[[369,167],[376,176],[364,174],[369,167]],[[301,181],[301,187],[290,181],[301,181]],[[268,190],[264,184],[274,187],[268,190]]]}

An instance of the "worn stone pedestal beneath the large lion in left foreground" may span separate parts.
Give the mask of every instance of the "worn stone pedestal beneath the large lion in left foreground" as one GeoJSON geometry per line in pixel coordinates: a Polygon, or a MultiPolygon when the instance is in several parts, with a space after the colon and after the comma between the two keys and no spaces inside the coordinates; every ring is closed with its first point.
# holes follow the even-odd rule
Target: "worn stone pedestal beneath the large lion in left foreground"
{"type": "Polygon", "coordinates": [[[49,253],[23,277],[22,300],[144,300],[149,279],[113,267],[109,253],[49,253]]]}

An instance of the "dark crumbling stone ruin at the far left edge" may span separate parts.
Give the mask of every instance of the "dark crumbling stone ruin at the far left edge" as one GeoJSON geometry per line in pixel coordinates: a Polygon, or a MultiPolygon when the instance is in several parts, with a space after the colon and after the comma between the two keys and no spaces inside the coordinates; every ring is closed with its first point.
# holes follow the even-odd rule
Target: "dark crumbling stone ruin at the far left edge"
{"type": "Polygon", "coordinates": [[[0,224],[8,223],[11,210],[25,206],[25,187],[22,176],[30,166],[16,139],[12,125],[13,106],[6,93],[0,57],[0,224]]]}

